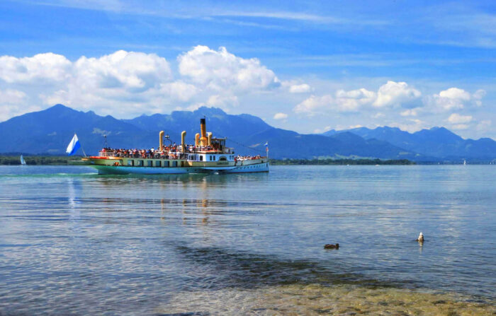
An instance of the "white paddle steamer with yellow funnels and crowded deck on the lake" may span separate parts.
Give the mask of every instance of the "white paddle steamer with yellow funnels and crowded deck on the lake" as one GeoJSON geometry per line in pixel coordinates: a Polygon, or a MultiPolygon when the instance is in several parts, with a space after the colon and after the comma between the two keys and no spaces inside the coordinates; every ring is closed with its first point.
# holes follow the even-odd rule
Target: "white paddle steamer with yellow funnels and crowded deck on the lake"
{"type": "Polygon", "coordinates": [[[99,174],[180,174],[180,173],[237,173],[269,172],[266,156],[236,156],[234,148],[226,146],[225,138],[214,138],[206,132],[205,119],[200,119],[201,133],[195,135],[195,144],[185,142],[186,131],[181,133],[181,144],[164,144],[169,140],[164,131],[159,133],[159,147],[147,150],[103,148],[98,156],[84,158],[99,174]]]}

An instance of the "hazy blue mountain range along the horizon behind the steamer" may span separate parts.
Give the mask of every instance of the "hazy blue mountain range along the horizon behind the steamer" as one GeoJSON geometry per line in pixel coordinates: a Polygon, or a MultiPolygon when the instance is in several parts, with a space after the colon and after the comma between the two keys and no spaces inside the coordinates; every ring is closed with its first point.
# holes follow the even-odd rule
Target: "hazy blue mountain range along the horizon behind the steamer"
{"type": "Polygon", "coordinates": [[[113,148],[156,148],[159,131],[164,130],[179,144],[180,133],[185,130],[186,142],[193,144],[201,117],[206,117],[208,131],[214,136],[227,137],[228,146],[235,147],[242,155],[264,153],[268,141],[271,158],[381,158],[419,162],[496,158],[496,141],[462,139],[444,127],[412,134],[395,127],[298,134],[271,127],[253,115],[229,115],[215,107],[115,119],[60,104],[0,122],[0,153],[64,154],[74,133],[87,154],[96,154],[103,147],[103,135],[113,148]]]}

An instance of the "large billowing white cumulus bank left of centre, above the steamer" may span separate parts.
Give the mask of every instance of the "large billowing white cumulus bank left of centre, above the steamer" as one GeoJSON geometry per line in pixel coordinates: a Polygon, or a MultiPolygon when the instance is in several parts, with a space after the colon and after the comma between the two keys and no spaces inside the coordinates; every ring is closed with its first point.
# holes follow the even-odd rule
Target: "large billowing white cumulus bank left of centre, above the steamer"
{"type": "MultiPolygon", "coordinates": [[[[224,47],[197,46],[179,55],[180,78],[157,54],[119,50],[74,62],[46,53],[0,57],[0,88],[20,87],[38,105],[63,103],[119,117],[165,112],[172,106],[230,107],[240,95],[276,91],[281,83],[258,59],[243,59],[224,47]]],[[[303,87],[300,87],[304,88],[303,87]]],[[[24,101],[26,103],[26,101],[24,101]]]]}

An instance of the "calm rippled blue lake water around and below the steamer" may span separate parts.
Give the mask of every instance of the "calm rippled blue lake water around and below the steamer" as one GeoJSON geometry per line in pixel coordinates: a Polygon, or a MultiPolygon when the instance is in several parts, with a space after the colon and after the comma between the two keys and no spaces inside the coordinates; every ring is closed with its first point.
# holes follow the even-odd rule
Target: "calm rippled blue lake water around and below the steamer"
{"type": "Polygon", "coordinates": [[[494,306],[495,184],[493,165],[156,176],[2,166],[0,314],[332,313],[305,310],[315,291],[494,306]],[[339,250],[323,249],[331,242],[339,250]]]}

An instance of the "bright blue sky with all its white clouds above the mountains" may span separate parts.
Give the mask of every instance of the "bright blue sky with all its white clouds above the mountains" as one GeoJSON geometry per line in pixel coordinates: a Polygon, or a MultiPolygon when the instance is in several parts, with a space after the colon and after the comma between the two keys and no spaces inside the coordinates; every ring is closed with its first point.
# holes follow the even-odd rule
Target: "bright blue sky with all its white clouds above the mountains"
{"type": "Polygon", "coordinates": [[[0,122],[201,106],[496,139],[495,1],[0,2],[0,122]]]}

